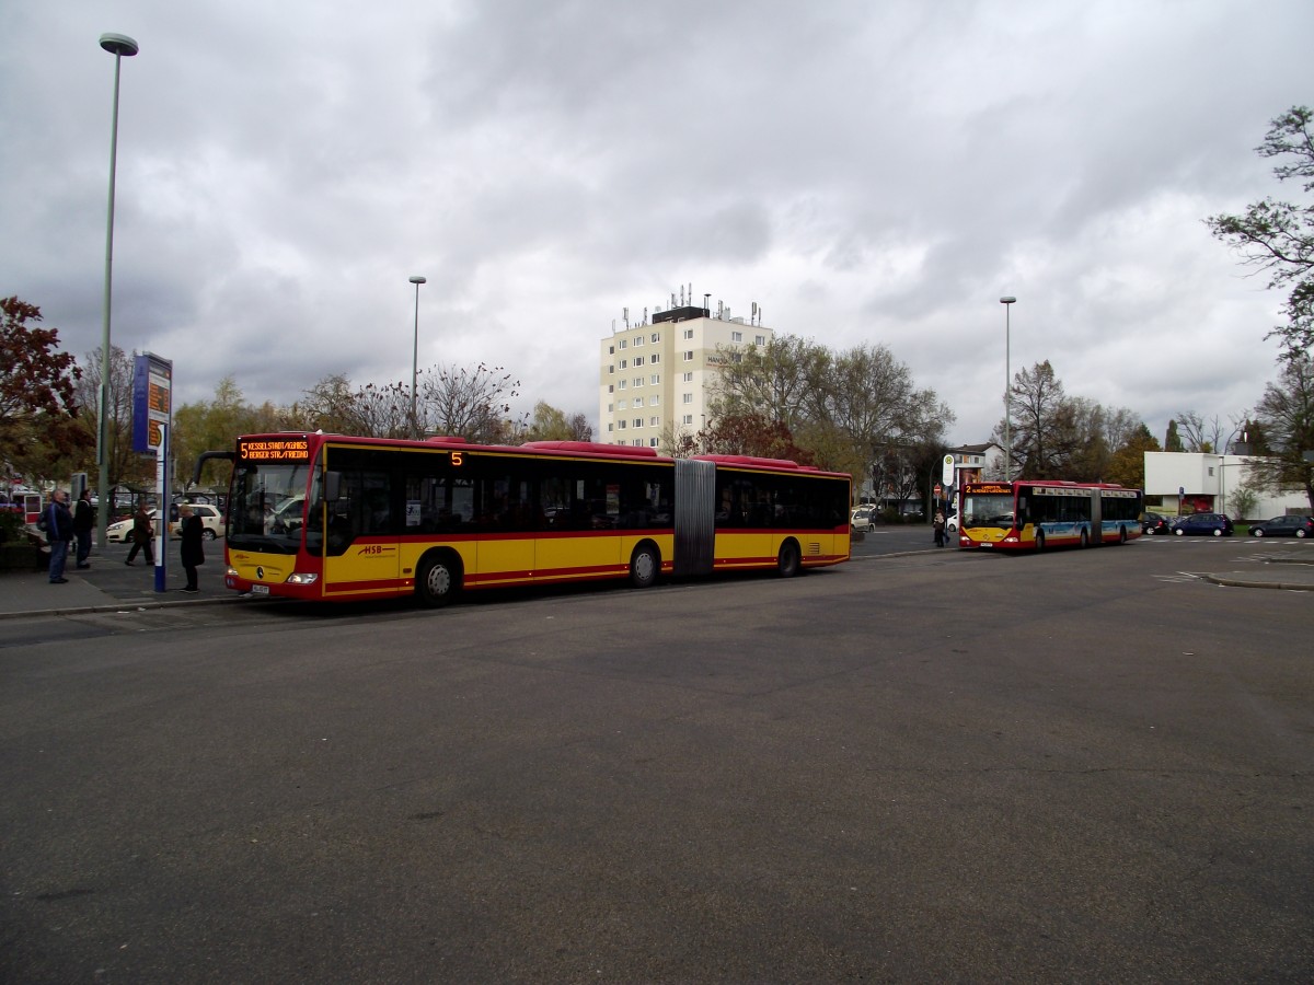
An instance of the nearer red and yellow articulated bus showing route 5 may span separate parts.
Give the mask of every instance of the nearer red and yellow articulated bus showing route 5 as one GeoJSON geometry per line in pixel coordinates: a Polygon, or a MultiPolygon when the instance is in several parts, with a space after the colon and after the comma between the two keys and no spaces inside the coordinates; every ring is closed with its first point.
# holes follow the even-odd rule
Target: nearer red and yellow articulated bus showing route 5
{"type": "Polygon", "coordinates": [[[583,441],[474,445],[250,435],[233,461],[225,583],[305,600],[849,559],[848,474],[775,458],[668,458],[583,441]]]}

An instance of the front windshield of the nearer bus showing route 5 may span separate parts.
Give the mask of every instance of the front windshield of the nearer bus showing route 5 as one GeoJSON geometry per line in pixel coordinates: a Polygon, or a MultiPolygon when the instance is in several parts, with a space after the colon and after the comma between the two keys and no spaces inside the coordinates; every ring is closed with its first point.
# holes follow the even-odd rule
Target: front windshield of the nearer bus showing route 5
{"type": "Polygon", "coordinates": [[[229,496],[229,546],[296,554],[309,470],[306,462],[239,464],[229,496]]]}

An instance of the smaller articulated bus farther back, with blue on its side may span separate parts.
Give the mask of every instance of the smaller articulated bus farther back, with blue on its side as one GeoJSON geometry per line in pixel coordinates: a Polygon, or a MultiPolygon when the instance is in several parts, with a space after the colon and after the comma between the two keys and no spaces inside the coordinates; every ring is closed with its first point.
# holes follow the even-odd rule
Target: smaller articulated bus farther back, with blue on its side
{"type": "Polygon", "coordinates": [[[958,546],[1045,550],[1141,536],[1142,494],[1102,482],[964,482],[958,546]]]}

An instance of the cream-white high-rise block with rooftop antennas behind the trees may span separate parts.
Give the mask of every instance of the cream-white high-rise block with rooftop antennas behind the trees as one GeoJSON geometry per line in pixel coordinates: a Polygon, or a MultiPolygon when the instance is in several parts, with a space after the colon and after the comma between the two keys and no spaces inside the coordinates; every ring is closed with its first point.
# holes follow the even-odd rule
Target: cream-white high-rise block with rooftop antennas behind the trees
{"type": "Polygon", "coordinates": [[[766,345],[774,334],[731,318],[727,307],[715,317],[706,307],[671,307],[644,322],[598,347],[597,440],[669,452],[664,435],[692,437],[707,426],[712,382],[727,355],[766,345]]]}

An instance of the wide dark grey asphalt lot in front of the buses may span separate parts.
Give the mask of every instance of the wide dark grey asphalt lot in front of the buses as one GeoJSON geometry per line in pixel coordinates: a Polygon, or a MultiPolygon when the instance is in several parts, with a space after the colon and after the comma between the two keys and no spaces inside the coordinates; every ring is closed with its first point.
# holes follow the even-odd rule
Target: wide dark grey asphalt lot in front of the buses
{"type": "Polygon", "coordinates": [[[887,542],[0,623],[0,977],[1309,978],[1314,605],[1198,575],[1275,545],[887,542]]]}

